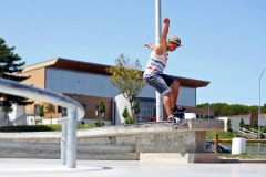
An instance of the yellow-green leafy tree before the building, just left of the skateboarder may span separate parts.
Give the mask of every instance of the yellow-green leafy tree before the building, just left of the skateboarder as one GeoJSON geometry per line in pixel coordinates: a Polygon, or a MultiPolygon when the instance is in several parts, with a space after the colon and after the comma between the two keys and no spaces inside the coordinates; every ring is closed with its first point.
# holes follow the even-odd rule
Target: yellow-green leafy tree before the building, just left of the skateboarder
{"type": "Polygon", "coordinates": [[[145,86],[142,72],[140,71],[141,67],[139,60],[131,63],[130,59],[125,59],[125,56],[121,54],[120,58],[115,60],[115,66],[106,69],[106,72],[111,74],[111,83],[117,87],[120,93],[130,102],[131,113],[134,113],[134,98],[145,86]]]}

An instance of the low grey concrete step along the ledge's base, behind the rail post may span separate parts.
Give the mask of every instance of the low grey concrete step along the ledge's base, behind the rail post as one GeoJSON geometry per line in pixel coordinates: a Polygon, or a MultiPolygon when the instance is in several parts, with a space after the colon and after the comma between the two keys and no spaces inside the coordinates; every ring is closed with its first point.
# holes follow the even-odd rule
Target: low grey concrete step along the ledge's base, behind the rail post
{"type": "MultiPolygon", "coordinates": [[[[59,159],[59,143],[0,142],[0,158],[49,158],[59,159]]],[[[78,159],[137,160],[134,145],[78,144],[78,159]]]]}

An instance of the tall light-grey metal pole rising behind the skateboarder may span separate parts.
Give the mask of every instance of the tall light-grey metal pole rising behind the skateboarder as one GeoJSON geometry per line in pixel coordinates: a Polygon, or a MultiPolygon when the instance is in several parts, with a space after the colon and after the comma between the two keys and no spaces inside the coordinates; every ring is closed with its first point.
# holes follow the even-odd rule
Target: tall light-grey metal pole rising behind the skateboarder
{"type": "MultiPolygon", "coordinates": [[[[155,44],[160,43],[162,34],[161,0],[155,0],[155,44]]],[[[156,92],[156,121],[163,121],[163,96],[156,92]]]]}

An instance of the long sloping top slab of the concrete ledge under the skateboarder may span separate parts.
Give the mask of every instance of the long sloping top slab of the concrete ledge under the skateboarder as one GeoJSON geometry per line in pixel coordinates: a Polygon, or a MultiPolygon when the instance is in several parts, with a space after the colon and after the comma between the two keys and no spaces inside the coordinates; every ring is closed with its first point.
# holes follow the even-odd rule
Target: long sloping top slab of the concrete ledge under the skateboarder
{"type": "MultiPolygon", "coordinates": [[[[224,122],[221,119],[187,119],[187,124],[178,126],[166,122],[144,124],[106,126],[99,128],[79,129],[78,137],[116,136],[129,134],[156,134],[166,132],[186,131],[223,131],[224,122]]],[[[0,139],[19,138],[61,138],[61,132],[27,132],[27,133],[0,133],[0,139]]]]}

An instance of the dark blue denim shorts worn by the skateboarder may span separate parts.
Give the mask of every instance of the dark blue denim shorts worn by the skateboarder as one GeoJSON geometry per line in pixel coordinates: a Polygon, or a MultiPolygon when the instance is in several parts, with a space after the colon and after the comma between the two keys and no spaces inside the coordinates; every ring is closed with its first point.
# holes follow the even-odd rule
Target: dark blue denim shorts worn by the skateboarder
{"type": "Polygon", "coordinates": [[[163,95],[170,93],[172,90],[172,85],[177,82],[176,80],[173,80],[165,74],[158,74],[152,77],[144,77],[144,80],[150,86],[154,87],[158,93],[163,95]]]}

